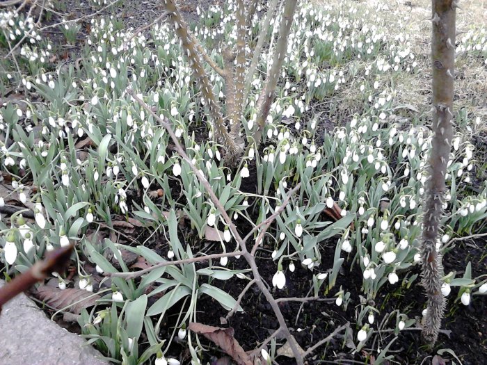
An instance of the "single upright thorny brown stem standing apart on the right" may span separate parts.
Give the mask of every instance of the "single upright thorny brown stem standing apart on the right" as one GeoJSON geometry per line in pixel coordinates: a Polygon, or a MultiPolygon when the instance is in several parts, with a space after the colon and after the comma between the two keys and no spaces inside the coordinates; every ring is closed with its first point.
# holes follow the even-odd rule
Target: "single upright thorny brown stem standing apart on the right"
{"type": "Polygon", "coordinates": [[[422,233],[422,284],[428,297],[422,336],[431,346],[438,339],[445,311],[441,293],[443,268],[436,251],[440,234],[445,175],[453,137],[455,8],[452,0],[432,0],[433,140],[422,233]]]}

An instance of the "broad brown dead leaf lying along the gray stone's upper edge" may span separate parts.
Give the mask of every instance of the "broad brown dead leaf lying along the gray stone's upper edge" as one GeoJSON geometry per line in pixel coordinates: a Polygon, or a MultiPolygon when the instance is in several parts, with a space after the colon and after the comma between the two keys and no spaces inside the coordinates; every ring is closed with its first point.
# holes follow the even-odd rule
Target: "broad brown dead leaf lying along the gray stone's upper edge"
{"type": "Polygon", "coordinates": [[[81,314],[81,309],[92,307],[96,301],[101,297],[98,294],[93,294],[90,291],[81,289],[64,289],[53,286],[41,285],[35,292],[40,300],[46,302],[47,305],[56,309],[63,309],[74,314],[81,314]],[[88,298],[90,297],[90,298],[88,298]]]}

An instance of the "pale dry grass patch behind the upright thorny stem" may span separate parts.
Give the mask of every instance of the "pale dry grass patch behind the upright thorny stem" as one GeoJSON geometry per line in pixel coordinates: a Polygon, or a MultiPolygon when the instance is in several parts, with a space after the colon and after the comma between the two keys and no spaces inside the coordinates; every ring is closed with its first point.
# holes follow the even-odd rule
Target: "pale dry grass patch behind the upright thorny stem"
{"type": "MultiPolygon", "coordinates": [[[[390,35],[403,33],[409,35],[411,49],[416,56],[418,70],[415,74],[401,73],[394,79],[397,90],[396,103],[414,106],[420,115],[430,109],[431,95],[431,1],[401,0],[401,1],[324,1],[314,0],[316,6],[320,3],[332,5],[337,9],[348,9],[350,6],[370,14],[367,24],[377,24],[388,29],[390,35]],[[378,8],[380,10],[376,11],[378,8]]],[[[457,11],[458,33],[470,29],[481,29],[487,24],[487,1],[461,1],[461,10],[457,11]]],[[[461,34],[458,35],[461,37],[461,34]]],[[[388,78],[384,75],[383,78],[388,78]]],[[[336,117],[346,118],[348,115],[360,111],[357,97],[360,95],[361,81],[352,82],[342,88],[336,96],[338,104],[336,117]]],[[[484,121],[482,129],[487,131],[487,67],[478,58],[459,56],[456,61],[455,108],[466,108],[469,113],[481,117],[484,121]]]]}

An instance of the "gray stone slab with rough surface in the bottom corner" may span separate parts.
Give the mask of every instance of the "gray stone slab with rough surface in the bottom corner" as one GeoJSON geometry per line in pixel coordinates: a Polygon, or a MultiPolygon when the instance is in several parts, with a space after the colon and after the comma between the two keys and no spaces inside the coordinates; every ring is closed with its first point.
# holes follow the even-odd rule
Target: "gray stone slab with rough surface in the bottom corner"
{"type": "MultiPolygon", "coordinates": [[[[0,286],[3,286],[0,280],[0,286]]],[[[23,293],[0,314],[0,363],[9,365],[107,365],[95,348],[67,332],[23,293]]]]}

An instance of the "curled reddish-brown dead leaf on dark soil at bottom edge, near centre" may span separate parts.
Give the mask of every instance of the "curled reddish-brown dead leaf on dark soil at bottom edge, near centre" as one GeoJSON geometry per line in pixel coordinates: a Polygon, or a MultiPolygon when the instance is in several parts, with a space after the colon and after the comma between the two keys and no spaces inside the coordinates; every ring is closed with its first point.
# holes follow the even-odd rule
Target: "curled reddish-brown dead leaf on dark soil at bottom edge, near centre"
{"type": "Polygon", "coordinates": [[[238,365],[252,365],[253,362],[250,356],[234,339],[234,330],[232,327],[220,328],[202,323],[189,323],[189,330],[196,334],[202,334],[210,341],[213,341],[216,346],[220,347],[227,355],[230,355],[238,365]]]}

